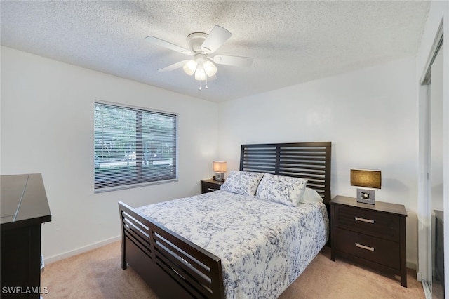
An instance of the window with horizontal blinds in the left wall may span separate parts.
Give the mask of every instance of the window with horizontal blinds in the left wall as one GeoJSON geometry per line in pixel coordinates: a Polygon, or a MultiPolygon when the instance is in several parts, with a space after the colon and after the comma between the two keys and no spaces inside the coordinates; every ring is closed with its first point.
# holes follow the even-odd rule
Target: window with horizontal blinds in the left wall
{"type": "Polygon", "coordinates": [[[177,115],[95,102],[95,192],[177,179],[177,115]]]}

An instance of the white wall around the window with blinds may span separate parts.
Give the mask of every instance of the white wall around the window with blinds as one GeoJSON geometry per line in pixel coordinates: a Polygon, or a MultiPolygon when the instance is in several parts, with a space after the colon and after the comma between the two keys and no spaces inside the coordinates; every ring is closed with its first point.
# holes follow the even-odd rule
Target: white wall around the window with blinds
{"type": "Polygon", "coordinates": [[[48,261],[117,239],[118,201],[140,206],[199,194],[217,159],[217,104],[1,48],[1,175],[42,173],[52,221],[48,261]],[[179,117],[179,181],[93,193],[93,103],[123,103],[179,117]]]}

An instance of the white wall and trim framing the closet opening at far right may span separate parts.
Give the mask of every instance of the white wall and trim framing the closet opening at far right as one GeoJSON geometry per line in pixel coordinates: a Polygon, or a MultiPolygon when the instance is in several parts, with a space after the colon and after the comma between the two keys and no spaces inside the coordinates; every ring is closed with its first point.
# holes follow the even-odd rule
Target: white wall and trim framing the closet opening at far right
{"type": "MultiPolygon", "coordinates": [[[[418,193],[418,217],[419,217],[419,232],[420,232],[420,268],[425,271],[427,267],[427,249],[426,245],[429,242],[427,233],[428,225],[430,225],[429,208],[425,194],[427,168],[425,167],[426,152],[425,140],[427,132],[425,128],[425,102],[427,100],[427,88],[420,86],[420,79],[422,74],[427,69],[427,61],[431,55],[431,48],[434,45],[434,40],[438,32],[438,28],[443,24],[443,32],[448,35],[449,32],[449,2],[448,1],[432,1],[429,15],[427,17],[426,26],[422,35],[421,46],[417,53],[417,90],[419,98],[417,99],[417,107],[420,107],[420,121],[418,131],[420,134],[420,172],[418,175],[418,186],[420,192],[418,193]],[[444,22],[443,22],[444,20],[444,22]]],[[[444,41],[443,47],[443,208],[444,208],[444,253],[445,253],[445,286],[449,286],[449,46],[447,46],[447,38],[444,41]]],[[[425,279],[426,277],[423,277],[425,279]]],[[[449,288],[445,288],[445,297],[449,298],[449,288]]]]}

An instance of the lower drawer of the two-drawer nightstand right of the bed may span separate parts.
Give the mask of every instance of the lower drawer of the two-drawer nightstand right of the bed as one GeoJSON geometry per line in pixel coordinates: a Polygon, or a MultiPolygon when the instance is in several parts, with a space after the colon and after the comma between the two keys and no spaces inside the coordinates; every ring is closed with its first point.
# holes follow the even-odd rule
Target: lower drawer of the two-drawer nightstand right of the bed
{"type": "Polygon", "coordinates": [[[396,242],[349,230],[335,229],[335,249],[394,269],[401,268],[401,254],[396,242]]]}

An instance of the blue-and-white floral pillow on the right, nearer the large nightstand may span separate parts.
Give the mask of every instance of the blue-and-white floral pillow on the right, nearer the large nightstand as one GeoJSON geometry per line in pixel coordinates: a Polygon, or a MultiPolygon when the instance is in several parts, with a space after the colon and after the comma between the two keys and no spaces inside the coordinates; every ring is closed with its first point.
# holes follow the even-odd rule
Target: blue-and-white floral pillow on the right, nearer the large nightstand
{"type": "Polygon", "coordinates": [[[287,206],[300,204],[307,180],[265,173],[257,187],[257,199],[274,201],[287,206]]]}

